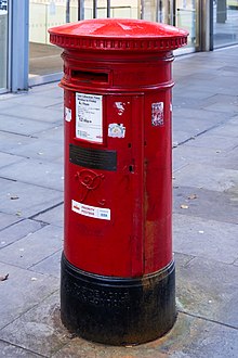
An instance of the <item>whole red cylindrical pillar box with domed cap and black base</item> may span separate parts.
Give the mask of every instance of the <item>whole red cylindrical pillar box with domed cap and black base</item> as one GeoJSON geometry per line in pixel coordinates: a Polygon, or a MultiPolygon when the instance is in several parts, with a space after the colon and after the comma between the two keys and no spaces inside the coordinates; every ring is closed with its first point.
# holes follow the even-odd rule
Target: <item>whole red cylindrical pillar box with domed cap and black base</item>
{"type": "Polygon", "coordinates": [[[176,318],[171,65],[188,34],[109,18],[49,31],[64,49],[62,320],[96,342],[151,341],[176,318]]]}

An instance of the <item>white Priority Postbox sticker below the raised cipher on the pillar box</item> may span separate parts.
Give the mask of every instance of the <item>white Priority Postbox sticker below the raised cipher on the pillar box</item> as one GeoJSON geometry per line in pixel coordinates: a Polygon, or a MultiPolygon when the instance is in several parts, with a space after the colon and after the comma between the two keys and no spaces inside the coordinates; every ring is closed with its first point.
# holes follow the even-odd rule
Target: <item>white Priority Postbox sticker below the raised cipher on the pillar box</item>
{"type": "Polygon", "coordinates": [[[82,203],[78,203],[75,200],[71,201],[71,209],[72,212],[89,216],[94,219],[102,219],[102,220],[110,220],[110,209],[97,206],[85,205],[82,203]]]}

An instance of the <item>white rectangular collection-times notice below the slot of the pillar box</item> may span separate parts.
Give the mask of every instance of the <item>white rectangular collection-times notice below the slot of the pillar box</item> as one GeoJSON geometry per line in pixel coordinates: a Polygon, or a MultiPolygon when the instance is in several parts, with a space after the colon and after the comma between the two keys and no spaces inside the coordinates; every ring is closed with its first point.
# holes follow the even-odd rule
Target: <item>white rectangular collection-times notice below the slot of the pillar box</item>
{"type": "Polygon", "coordinates": [[[76,138],[103,143],[103,95],[76,93],[76,138]]]}

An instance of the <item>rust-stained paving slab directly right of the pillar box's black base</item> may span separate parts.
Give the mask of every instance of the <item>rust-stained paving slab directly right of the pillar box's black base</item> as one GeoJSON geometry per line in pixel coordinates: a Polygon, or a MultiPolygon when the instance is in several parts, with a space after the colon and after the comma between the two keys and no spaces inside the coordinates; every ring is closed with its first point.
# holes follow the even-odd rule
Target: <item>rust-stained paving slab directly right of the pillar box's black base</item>
{"type": "Polygon", "coordinates": [[[195,257],[176,274],[181,311],[226,324],[238,333],[238,270],[234,265],[195,257]]]}

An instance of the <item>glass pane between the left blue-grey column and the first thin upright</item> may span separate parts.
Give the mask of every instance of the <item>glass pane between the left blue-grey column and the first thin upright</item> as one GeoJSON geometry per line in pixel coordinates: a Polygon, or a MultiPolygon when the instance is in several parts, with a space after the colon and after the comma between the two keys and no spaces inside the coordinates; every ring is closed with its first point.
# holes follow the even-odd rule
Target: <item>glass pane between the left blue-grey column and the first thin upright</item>
{"type": "Polygon", "coordinates": [[[78,20],[78,0],[29,0],[29,85],[61,77],[62,49],[50,43],[48,29],[78,20]]]}

